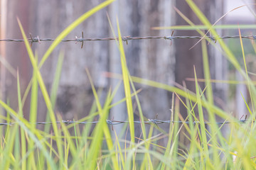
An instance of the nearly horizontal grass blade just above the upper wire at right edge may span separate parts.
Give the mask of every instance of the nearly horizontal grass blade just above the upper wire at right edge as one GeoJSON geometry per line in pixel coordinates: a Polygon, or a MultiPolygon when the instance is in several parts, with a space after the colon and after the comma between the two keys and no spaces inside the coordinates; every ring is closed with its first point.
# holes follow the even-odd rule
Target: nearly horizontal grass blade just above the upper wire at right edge
{"type": "MultiPolygon", "coordinates": [[[[240,29],[255,29],[256,25],[255,24],[250,24],[250,25],[239,25],[240,29]]],[[[209,28],[204,25],[194,25],[194,26],[166,26],[166,27],[153,27],[153,30],[166,30],[166,29],[171,29],[171,30],[208,30],[209,28]]],[[[215,25],[213,26],[213,29],[238,29],[238,25],[232,25],[232,24],[227,24],[227,25],[215,25]]]]}

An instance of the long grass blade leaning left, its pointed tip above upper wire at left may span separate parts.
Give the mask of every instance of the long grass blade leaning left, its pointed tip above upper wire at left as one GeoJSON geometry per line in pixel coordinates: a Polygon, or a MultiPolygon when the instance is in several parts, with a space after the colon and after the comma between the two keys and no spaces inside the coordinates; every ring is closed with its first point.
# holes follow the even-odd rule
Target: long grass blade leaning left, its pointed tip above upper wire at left
{"type": "Polygon", "coordinates": [[[58,154],[59,154],[59,158],[60,158],[60,161],[59,161],[59,165],[60,167],[62,166],[63,164],[63,149],[61,147],[61,139],[59,137],[59,133],[58,133],[58,128],[57,128],[57,124],[56,124],[56,118],[55,118],[55,114],[53,112],[53,107],[50,103],[50,97],[48,96],[48,92],[46,90],[46,85],[44,84],[43,82],[43,78],[41,76],[41,73],[39,72],[39,68],[36,64],[36,59],[33,55],[33,52],[32,52],[32,49],[31,49],[31,46],[29,45],[29,42],[26,38],[26,35],[24,33],[24,30],[23,30],[23,27],[21,26],[21,21],[19,21],[18,19],[18,25],[21,29],[21,33],[22,33],[22,36],[23,36],[23,39],[24,39],[24,42],[25,42],[25,45],[26,45],[26,49],[28,51],[28,56],[31,60],[31,64],[33,66],[33,69],[35,70],[36,74],[37,74],[37,79],[38,79],[38,84],[39,86],[41,87],[41,91],[42,91],[42,94],[43,94],[43,98],[45,100],[45,103],[46,103],[46,106],[48,108],[48,111],[50,112],[50,120],[53,122],[53,131],[54,131],[54,134],[55,134],[55,137],[56,137],[56,144],[57,144],[57,147],[58,147],[58,154]]]}

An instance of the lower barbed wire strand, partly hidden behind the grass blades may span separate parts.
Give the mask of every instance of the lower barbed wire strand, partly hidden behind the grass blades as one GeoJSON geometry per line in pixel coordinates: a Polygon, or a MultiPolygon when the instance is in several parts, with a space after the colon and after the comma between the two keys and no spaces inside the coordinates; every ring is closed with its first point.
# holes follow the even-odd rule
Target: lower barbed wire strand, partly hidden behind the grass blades
{"type": "MultiPolygon", "coordinates": [[[[97,124],[100,123],[100,121],[92,121],[92,122],[87,122],[87,121],[75,121],[75,120],[62,120],[62,121],[56,121],[56,124],[64,123],[66,125],[70,124],[97,124]]],[[[120,125],[120,124],[126,124],[129,123],[129,121],[119,121],[119,120],[106,120],[106,123],[108,125],[120,125]]],[[[136,124],[141,124],[141,121],[134,121],[136,124]]],[[[149,119],[148,121],[144,121],[145,124],[149,125],[159,125],[162,123],[179,123],[179,124],[189,124],[189,121],[175,121],[175,120],[158,120],[158,119],[149,119]]],[[[193,121],[193,125],[199,124],[200,121],[193,121]]],[[[224,122],[216,122],[218,125],[223,125],[223,124],[229,124],[229,123],[255,123],[255,121],[250,121],[250,120],[237,120],[237,121],[224,121],[224,122]]],[[[11,123],[0,123],[0,125],[14,125],[18,124],[17,122],[11,122],[11,123]]],[[[53,122],[34,122],[30,124],[36,124],[36,125],[51,125],[53,122]]],[[[204,122],[205,125],[211,124],[211,122],[204,122]]]]}

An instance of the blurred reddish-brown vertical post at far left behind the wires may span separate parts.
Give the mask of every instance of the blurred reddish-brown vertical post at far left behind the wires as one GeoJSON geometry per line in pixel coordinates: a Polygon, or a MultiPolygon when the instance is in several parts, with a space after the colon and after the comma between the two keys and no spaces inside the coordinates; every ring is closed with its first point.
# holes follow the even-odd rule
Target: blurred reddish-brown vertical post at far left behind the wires
{"type": "MultiPolygon", "coordinates": [[[[4,6],[2,6],[4,8],[4,6]]],[[[28,35],[28,30],[30,28],[30,0],[24,0],[22,3],[17,3],[17,1],[6,1],[6,37],[8,38],[21,38],[21,31],[18,27],[17,17],[21,20],[23,28],[28,35]]],[[[21,93],[25,90],[30,81],[31,77],[31,63],[28,58],[28,52],[23,43],[8,43],[4,46],[6,50],[6,62],[9,62],[14,69],[18,69],[21,77],[21,93]]],[[[2,69],[2,68],[1,68],[2,69]]],[[[2,71],[2,70],[1,70],[2,71]]],[[[7,71],[7,70],[6,70],[7,71]]],[[[10,101],[11,108],[16,109],[18,107],[17,103],[17,84],[16,77],[10,72],[1,72],[1,76],[5,77],[5,82],[2,82],[2,86],[6,91],[6,98],[10,101]],[[4,84],[3,84],[4,83],[4,84]]],[[[29,96],[27,98],[27,101],[29,96]]],[[[29,106],[28,102],[24,106],[24,116],[28,118],[29,106]]]]}

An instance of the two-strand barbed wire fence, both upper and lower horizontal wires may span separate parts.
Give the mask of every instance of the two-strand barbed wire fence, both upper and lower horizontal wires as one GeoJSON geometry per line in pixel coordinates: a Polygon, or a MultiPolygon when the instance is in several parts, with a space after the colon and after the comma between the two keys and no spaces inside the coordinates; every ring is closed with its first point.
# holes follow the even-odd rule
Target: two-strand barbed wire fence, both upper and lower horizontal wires
{"type": "MultiPolygon", "coordinates": [[[[174,33],[174,32],[173,32],[174,33]]],[[[250,39],[250,40],[256,40],[256,35],[233,35],[233,36],[220,36],[220,37],[214,37],[214,36],[174,36],[173,33],[168,36],[144,36],[144,37],[130,37],[130,36],[123,36],[122,41],[126,42],[128,44],[129,40],[151,40],[151,39],[162,39],[162,40],[176,40],[176,39],[207,39],[207,40],[213,40],[217,41],[219,39],[236,39],[236,38],[245,38],[245,39],[250,39]]],[[[39,36],[33,38],[32,35],[30,34],[30,38],[28,38],[28,41],[31,42],[31,45],[33,42],[43,42],[43,41],[54,41],[54,38],[39,38],[39,36]]],[[[90,42],[90,41],[106,41],[106,40],[119,40],[119,38],[84,38],[83,37],[83,32],[82,32],[82,38],[78,38],[75,36],[74,39],[63,39],[61,40],[62,42],[90,42]]],[[[24,42],[23,39],[0,39],[0,42],[24,42]]],[[[82,48],[81,46],[81,48],[82,48]]],[[[62,121],[56,121],[55,123],[60,124],[97,124],[99,121],[92,121],[92,122],[87,122],[87,121],[75,121],[75,120],[62,120],[62,121]]],[[[106,123],[108,125],[120,125],[120,124],[127,124],[129,121],[119,121],[119,120],[106,120],[106,123]]],[[[141,121],[134,121],[134,123],[141,124],[141,121]]],[[[145,124],[154,124],[154,125],[159,125],[162,123],[180,123],[180,124],[189,124],[189,121],[174,121],[174,120],[157,120],[157,119],[149,119],[148,121],[144,121],[145,124]]],[[[200,123],[200,121],[193,121],[193,125],[200,123]]],[[[250,120],[237,120],[237,121],[223,121],[223,122],[215,122],[218,125],[223,125],[223,124],[228,124],[228,123],[255,123],[255,121],[250,121],[250,120]]],[[[17,122],[11,122],[11,123],[0,123],[1,125],[14,125],[18,124],[17,122]]],[[[35,122],[31,124],[36,124],[36,125],[51,125],[53,122],[35,122]]],[[[205,125],[210,124],[210,122],[204,122],[205,125]]]]}

